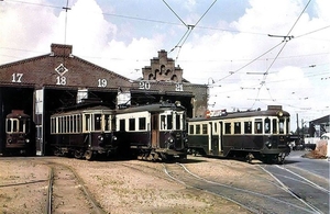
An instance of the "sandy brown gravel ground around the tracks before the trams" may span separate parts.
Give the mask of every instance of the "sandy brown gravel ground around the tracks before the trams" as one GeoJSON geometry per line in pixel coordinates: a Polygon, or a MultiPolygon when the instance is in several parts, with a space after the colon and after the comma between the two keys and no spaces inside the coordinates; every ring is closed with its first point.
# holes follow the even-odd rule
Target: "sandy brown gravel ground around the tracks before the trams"
{"type": "MultiPolygon", "coordinates": [[[[242,187],[249,182],[253,190],[265,188],[261,180],[250,180],[252,173],[266,177],[253,165],[188,158],[185,166],[200,177],[242,187]]],[[[0,213],[43,213],[50,170],[47,161],[74,168],[108,213],[249,213],[222,198],[173,181],[160,162],[86,161],[57,157],[0,158],[0,213]]],[[[79,204],[76,207],[77,211],[72,213],[80,213],[79,204]]]]}

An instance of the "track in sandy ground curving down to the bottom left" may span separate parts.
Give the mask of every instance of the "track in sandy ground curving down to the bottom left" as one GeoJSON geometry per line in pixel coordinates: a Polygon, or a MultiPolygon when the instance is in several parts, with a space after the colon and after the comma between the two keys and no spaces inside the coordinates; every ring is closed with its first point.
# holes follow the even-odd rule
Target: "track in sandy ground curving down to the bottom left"
{"type": "Polygon", "coordinates": [[[45,213],[106,213],[73,168],[55,162],[47,162],[47,166],[50,178],[45,213]]]}

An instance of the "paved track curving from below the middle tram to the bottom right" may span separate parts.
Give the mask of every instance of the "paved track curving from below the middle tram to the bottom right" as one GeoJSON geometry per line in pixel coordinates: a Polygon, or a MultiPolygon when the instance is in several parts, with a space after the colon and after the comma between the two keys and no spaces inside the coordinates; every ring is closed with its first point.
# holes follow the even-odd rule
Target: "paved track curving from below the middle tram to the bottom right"
{"type": "Polygon", "coordinates": [[[251,188],[248,189],[248,187],[235,187],[234,183],[224,184],[201,178],[189,171],[182,164],[164,164],[164,172],[186,187],[204,190],[227,199],[251,213],[316,213],[315,210],[306,204],[301,204],[299,200],[282,188],[277,188],[276,194],[273,194],[267,190],[260,192],[253,191],[251,188]]]}

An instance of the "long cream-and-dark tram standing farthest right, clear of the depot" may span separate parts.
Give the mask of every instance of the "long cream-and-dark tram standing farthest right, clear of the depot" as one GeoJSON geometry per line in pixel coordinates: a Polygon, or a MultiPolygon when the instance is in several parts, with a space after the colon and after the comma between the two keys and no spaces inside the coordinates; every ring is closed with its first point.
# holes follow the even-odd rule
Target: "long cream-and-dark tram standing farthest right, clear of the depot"
{"type": "Polygon", "coordinates": [[[222,112],[188,120],[189,154],[258,159],[282,164],[290,153],[288,112],[280,105],[267,110],[222,112]]]}

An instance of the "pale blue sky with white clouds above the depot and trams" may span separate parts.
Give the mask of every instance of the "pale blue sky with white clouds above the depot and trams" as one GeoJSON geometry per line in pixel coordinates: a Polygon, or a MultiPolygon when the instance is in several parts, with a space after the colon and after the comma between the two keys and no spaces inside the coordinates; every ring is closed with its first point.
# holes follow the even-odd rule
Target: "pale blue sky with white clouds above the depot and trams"
{"type": "Polygon", "coordinates": [[[0,0],[0,65],[51,44],[130,79],[165,49],[209,109],[330,114],[329,0],[0,0]],[[65,9],[67,8],[67,10],[65,9]]]}

